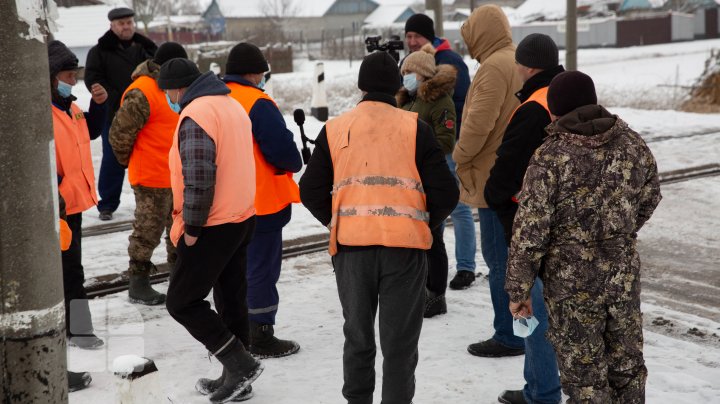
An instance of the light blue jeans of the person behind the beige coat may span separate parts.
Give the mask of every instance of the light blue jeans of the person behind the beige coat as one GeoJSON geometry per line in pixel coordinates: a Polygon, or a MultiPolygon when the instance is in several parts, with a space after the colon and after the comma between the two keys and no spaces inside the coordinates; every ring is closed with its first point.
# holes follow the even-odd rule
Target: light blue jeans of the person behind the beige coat
{"type": "MultiPolygon", "coordinates": [[[[452,154],[446,154],[450,172],[453,173],[457,182],[457,174],[455,173],[455,162],[452,154]]],[[[459,184],[459,182],[458,182],[459,184]]],[[[455,261],[458,271],[475,272],[475,251],[477,245],[475,242],[475,221],[472,217],[472,209],[462,202],[458,202],[455,210],[452,211],[450,217],[453,220],[453,230],[455,232],[455,261]]]]}

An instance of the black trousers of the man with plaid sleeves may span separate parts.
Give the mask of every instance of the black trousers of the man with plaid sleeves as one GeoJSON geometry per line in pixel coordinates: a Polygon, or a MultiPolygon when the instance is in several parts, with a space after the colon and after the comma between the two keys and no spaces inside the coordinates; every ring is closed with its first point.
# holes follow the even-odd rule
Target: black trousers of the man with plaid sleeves
{"type": "Polygon", "coordinates": [[[165,306],[211,353],[233,335],[248,346],[245,276],[247,245],[254,231],[255,216],[241,223],[204,227],[192,247],[185,244],[184,237],[178,242],[165,306]],[[205,300],[211,289],[217,312],[205,300]]]}

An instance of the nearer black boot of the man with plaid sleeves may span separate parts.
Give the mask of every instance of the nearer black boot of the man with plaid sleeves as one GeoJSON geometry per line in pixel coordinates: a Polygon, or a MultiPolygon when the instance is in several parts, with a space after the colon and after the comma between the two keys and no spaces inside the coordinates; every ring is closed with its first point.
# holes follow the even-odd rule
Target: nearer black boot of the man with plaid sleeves
{"type": "Polygon", "coordinates": [[[216,357],[223,364],[225,377],[220,376],[222,384],[210,396],[210,401],[213,403],[236,401],[239,397],[247,394],[250,383],[255,381],[263,371],[263,365],[253,358],[237,340],[234,340],[216,357]]]}

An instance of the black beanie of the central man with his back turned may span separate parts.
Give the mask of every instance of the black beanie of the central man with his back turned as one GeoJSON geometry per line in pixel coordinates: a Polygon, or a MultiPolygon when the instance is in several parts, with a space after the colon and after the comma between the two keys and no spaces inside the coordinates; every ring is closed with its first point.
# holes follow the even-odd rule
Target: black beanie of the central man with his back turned
{"type": "Polygon", "coordinates": [[[358,74],[358,88],[368,93],[394,96],[402,87],[397,62],[387,52],[373,52],[363,59],[358,74]]]}

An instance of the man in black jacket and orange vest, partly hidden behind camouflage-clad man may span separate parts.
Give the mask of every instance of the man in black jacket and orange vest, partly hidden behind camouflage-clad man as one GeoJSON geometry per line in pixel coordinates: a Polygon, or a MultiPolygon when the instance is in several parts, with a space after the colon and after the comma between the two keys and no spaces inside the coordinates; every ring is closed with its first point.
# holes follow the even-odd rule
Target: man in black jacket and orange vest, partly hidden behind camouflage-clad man
{"type": "MultiPolygon", "coordinates": [[[[515,93],[521,104],[510,118],[484,191],[488,206],[497,213],[503,225],[506,248],[510,246],[512,238],[513,220],[518,209],[517,196],[525,171],[530,157],[545,139],[545,127],[550,124],[548,86],[555,76],[565,70],[559,65],[555,42],[544,34],[530,34],[520,41],[515,50],[515,60],[524,83],[522,89],[515,93]]],[[[499,276],[505,283],[505,270],[499,276]]],[[[503,290],[500,293],[509,299],[507,292],[503,290]]],[[[560,402],[558,365],[555,350],[545,338],[548,318],[543,302],[543,285],[539,278],[532,289],[532,299],[534,316],[539,324],[524,339],[526,384],[523,390],[501,392],[498,397],[501,403],[560,402]]],[[[507,307],[495,307],[495,310],[507,310],[507,307]]],[[[512,328],[510,316],[500,318],[507,321],[505,327],[512,328]]]]}

